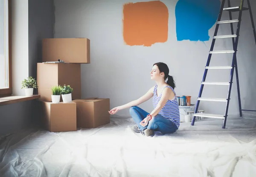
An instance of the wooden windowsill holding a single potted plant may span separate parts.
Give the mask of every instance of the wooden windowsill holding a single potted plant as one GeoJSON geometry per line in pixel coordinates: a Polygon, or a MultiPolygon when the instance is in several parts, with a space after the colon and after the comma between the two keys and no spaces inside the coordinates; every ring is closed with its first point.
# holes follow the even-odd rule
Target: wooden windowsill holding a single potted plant
{"type": "Polygon", "coordinates": [[[33,96],[6,96],[0,98],[0,106],[6,105],[6,104],[13,104],[18,102],[25,102],[32,99],[38,99],[40,98],[40,95],[33,95],[33,96]]]}

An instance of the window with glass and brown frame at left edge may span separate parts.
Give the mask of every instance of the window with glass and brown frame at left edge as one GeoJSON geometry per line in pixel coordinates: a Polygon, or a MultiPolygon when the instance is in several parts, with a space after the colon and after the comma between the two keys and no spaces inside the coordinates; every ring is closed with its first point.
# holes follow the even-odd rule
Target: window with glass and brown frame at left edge
{"type": "Polygon", "coordinates": [[[0,97],[12,94],[11,0],[0,0],[0,97]]]}

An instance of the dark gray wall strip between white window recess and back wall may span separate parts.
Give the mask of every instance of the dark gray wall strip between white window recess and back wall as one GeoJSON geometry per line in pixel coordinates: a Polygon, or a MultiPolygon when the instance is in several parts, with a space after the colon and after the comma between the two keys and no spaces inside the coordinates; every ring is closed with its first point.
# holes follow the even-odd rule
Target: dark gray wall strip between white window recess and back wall
{"type": "Polygon", "coordinates": [[[53,38],[53,0],[29,0],[29,76],[36,78],[42,62],[42,39],[53,38]]]}

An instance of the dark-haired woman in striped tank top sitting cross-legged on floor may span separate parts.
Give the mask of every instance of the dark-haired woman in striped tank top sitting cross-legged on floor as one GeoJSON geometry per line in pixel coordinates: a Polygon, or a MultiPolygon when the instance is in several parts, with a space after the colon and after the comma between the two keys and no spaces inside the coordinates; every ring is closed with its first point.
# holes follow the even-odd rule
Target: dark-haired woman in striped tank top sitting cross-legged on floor
{"type": "Polygon", "coordinates": [[[174,91],[175,82],[169,75],[169,68],[164,63],[156,63],[150,72],[151,79],[156,85],[148,90],[144,96],[137,100],[114,107],[109,111],[115,114],[117,111],[130,107],[130,114],[137,125],[131,129],[134,132],[151,136],[154,131],[163,134],[174,133],[180,126],[180,111],[177,103],[176,93],[174,91]],[[168,78],[167,82],[166,79],[168,78]],[[147,113],[137,105],[153,97],[154,110],[147,113]]]}

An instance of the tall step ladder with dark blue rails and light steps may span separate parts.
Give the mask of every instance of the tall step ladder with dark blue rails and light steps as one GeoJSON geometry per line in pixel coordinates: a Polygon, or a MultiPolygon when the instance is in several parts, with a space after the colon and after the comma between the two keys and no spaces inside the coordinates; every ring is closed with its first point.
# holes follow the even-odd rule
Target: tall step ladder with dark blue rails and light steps
{"type": "Polygon", "coordinates": [[[239,90],[239,78],[238,78],[238,69],[237,69],[237,61],[236,61],[236,52],[237,52],[237,46],[238,46],[238,40],[239,40],[239,31],[240,31],[240,25],[241,25],[241,17],[242,17],[242,12],[243,11],[249,10],[250,18],[251,18],[251,23],[252,23],[252,27],[253,27],[253,35],[254,35],[255,44],[256,44],[256,32],[255,32],[255,26],[254,26],[254,22],[253,22],[252,10],[251,10],[251,7],[250,7],[250,0],[247,0],[248,8],[244,7],[244,0],[241,0],[240,6],[236,6],[236,7],[231,7],[230,6],[230,0],[227,0],[228,7],[224,8],[225,1],[226,0],[222,0],[222,3],[221,3],[221,9],[220,9],[220,12],[219,12],[219,15],[218,15],[218,20],[217,20],[214,36],[213,36],[213,39],[212,39],[212,44],[211,44],[211,48],[210,48],[210,51],[209,51],[209,56],[208,56],[208,59],[207,59],[207,64],[205,66],[204,76],[203,76],[203,80],[201,82],[201,87],[200,87],[197,103],[196,103],[196,106],[195,106],[195,113],[194,113],[193,119],[191,121],[191,125],[195,124],[196,117],[207,117],[207,118],[223,119],[222,128],[226,128],[227,113],[228,113],[228,107],[229,107],[229,102],[230,102],[230,93],[231,93],[231,87],[232,87],[232,82],[233,82],[234,70],[236,70],[236,83],[237,83],[237,91],[238,91],[238,101],[239,101],[239,113],[240,113],[240,116],[242,116],[242,112],[241,111],[256,111],[256,110],[243,110],[243,109],[241,109],[241,99],[240,99],[240,90],[239,90]],[[222,15],[223,11],[229,12],[230,20],[221,21],[221,15],[222,15]],[[232,19],[232,12],[239,12],[238,20],[233,20],[232,19]],[[219,25],[227,24],[227,23],[230,23],[231,35],[221,35],[221,36],[218,36],[217,33],[218,33],[219,25]],[[234,34],[233,23],[237,23],[236,34],[234,34]],[[222,38],[232,38],[233,50],[223,50],[223,51],[214,51],[213,50],[214,44],[215,44],[215,40],[216,39],[217,40],[218,39],[222,39],[222,38]],[[214,55],[215,54],[225,55],[226,53],[233,53],[233,60],[232,60],[231,66],[218,66],[218,67],[214,67],[214,66],[210,67],[209,66],[212,54],[214,54],[214,55]],[[207,82],[207,81],[205,81],[208,70],[222,70],[222,69],[229,69],[229,70],[231,70],[230,71],[230,81],[229,82],[207,82]],[[202,92],[203,92],[203,89],[204,89],[204,85],[227,85],[228,86],[227,98],[226,99],[202,98],[201,95],[202,95],[202,92]],[[224,115],[208,114],[208,113],[197,113],[200,101],[226,102],[226,108],[225,108],[224,115]]]}

